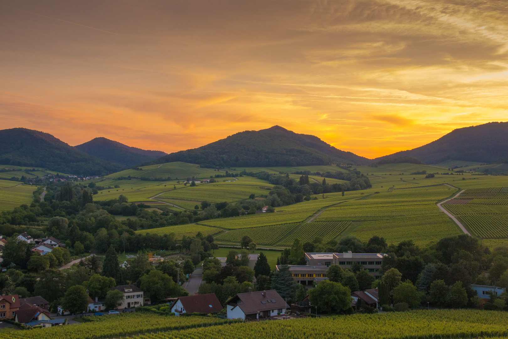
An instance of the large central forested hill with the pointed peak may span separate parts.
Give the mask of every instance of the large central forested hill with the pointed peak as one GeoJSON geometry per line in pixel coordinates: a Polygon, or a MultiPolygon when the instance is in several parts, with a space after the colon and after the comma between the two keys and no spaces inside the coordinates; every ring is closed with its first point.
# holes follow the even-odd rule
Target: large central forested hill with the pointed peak
{"type": "Polygon", "coordinates": [[[204,167],[309,166],[331,163],[367,164],[371,161],[337,149],[312,135],[297,134],[280,126],[244,131],[199,148],[171,153],[148,162],[174,161],[204,167]]]}

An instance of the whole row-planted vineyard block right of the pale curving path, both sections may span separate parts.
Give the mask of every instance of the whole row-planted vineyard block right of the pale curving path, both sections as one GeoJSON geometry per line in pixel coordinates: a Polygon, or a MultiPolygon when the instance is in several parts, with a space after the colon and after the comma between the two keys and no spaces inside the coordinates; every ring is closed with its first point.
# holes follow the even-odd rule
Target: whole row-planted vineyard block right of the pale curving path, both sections
{"type": "Polygon", "coordinates": [[[443,204],[476,236],[483,239],[508,238],[508,187],[465,190],[458,198],[467,204],[443,204]],[[503,203],[503,202],[507,203],[503,203]]]}

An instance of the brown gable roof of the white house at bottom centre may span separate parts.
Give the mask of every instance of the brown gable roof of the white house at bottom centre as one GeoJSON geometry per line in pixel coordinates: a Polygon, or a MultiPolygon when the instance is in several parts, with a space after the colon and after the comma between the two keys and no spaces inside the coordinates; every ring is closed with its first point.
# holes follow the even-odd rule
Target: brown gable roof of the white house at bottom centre
{"type": "Polygon", "coordinates": [[[228,302],[231,303],[236,303],[245,315],[289,306],[275,290],[238,293],[228,302]]]}

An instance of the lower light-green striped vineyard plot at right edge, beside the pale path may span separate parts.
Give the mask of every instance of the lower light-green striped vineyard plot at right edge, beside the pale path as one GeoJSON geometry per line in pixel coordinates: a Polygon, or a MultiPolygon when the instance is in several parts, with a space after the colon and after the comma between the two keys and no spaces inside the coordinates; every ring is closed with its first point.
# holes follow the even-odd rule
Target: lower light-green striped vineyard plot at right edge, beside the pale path
{"type": "Polygon", "coordinates": [[[508,237],[508,206],[472,202],[466,205],[443,206],[466,224],[473,234],[481,238],[508,237]]]}

